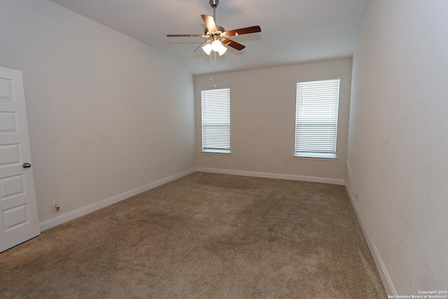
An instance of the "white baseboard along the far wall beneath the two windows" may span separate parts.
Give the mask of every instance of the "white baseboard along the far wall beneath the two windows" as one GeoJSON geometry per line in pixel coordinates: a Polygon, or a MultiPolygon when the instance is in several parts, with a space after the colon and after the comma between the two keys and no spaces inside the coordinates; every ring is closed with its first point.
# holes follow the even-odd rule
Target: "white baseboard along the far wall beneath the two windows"
{"type": "Polygon", "coordinates": [[[211,172],[214,174],[234,174],[237,176],[255,176],[267,179],[285,179],[290,181],[310,181],[313,183],[331,183],[333,185],[344,185],[343,179],[320,178],[317,176],[297,176],[294,174],[272,174],[269,172],[246,172],[244,170],[218,169],[197,167],[197,172],[211,172]]]}

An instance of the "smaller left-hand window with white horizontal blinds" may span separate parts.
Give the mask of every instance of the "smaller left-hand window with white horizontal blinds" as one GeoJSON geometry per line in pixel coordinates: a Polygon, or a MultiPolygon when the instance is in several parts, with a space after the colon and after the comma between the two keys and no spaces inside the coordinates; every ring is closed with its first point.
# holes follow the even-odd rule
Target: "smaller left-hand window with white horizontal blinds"
{"type": "Polygon", "coordinates": [[[230,153],[230,88],[202,90],[202,151],[230,153]]]}

